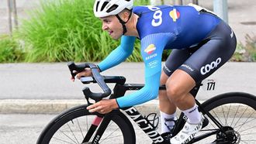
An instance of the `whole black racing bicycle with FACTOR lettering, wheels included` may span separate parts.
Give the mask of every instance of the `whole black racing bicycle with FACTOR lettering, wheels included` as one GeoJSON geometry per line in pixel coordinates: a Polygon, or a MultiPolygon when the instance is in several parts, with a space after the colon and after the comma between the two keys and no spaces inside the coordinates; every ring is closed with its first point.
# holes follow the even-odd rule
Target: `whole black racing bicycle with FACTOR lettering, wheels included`
{"type": "MultiPolygon", "coordinates": [[[[92,69],[93,77],[81,78],[83,84],[98,83],[102,93],[94,93],[89,87],[83,92],[87,105],[80,105],[71,108],[57,115],[40,134],[38,144],[52,143],[136,143],[136,135],[132,119],[154,143],[170,143],[157,132],[159,118],[155,114],[143,116],[134,107],[121,108],[109,112],[106,115],[97,112],[90,113],[86,108],[92,105],[91,101],[100,101],[102,98],[119,98],[126,91],[137,91],[144,87],[143,84],[125,84],[126,78],[119,76],[102,76],[95,64],[68,63],[71,74],[74,77],[74,70],[79,72],[85,67],[92,69]],[[113,92],[106,83],[114,83],[113,92]],[[129,118],[130,117],[130,118],[129,118]]],[[[195,97],[202,84],[197,84],[191,91],[195,97]]],[[[164,90],[165,87],[159,87],[164,90]]],[[[252,94],[242,92],[230,92],[210,98],[202,104],[196,101],[199,111],[205,116],[206,121],[203,129],[195,135],[189,143],[255,143],[256,130],[256,97],[252,94]]],[[[178,121],[172,130],[176,135],[185,125],[185,116],[179,115],[178,121]]]]}

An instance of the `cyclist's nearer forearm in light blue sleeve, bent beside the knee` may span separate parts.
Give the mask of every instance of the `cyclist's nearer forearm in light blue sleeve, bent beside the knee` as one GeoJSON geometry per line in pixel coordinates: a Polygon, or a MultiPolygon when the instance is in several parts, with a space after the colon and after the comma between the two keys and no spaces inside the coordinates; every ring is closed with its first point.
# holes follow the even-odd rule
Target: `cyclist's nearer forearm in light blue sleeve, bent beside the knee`
{"type": "Polygon", "coordinates": [[[119,105],[119,108],[139,105],[157,98],[160,85],[160,74],[161,72],[154,74],[153,76],[146,77],[145,87],[140,89],[140,91],[134,92],[133,94],[127,94],[121,98],[117,98],[116,101],[119,105]]]}

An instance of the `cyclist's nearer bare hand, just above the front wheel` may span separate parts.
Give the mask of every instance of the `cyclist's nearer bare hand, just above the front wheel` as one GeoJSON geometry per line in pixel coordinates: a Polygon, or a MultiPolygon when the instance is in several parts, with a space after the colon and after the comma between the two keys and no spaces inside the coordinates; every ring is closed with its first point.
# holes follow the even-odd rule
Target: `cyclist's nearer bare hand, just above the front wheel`
{"type": "Polygon", "coordinates": [[[87,107],[89,112],[99,112],[100,114],[109,113],[116,108],[119,108],[116,99],[103,99],[102,101],[96,102],[95,104],[87,107]]]}

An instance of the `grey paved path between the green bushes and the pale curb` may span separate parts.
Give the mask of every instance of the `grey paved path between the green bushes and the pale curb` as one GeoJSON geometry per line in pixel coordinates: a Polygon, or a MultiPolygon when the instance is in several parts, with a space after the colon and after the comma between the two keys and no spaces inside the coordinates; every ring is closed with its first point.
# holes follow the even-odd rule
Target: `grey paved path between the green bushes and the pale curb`
{"type": "MultiPolygon", "coordinates": [[[[216,80],[215,91],[199,91],[199,99],[228,91],[256,94],[256,63],[226,63],[209,79],[216,80]]],[[[82,99],[80,81],[70,81],[67,63],[0,64],[0,99],[82,99]]],[[[123,75],[126,83],[144,83],[144,63],[121,63],[102,73],[123,75]]],[[[97,85],[92,85],[99,90],[97,85]]],[[[112,85],[111,85],[112,86],[112,85]]],[[[94,89],[93,89],[94,90],[94,89]]]]}

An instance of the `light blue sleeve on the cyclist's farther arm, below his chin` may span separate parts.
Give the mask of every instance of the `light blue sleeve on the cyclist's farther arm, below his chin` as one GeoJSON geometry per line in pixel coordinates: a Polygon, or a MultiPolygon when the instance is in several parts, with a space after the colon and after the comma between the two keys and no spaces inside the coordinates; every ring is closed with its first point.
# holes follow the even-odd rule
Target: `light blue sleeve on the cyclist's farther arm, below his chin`
{"type": "Polygon", "coordinates": [[[121,44],[98,64],[99,69],[104,71],[125,61],[133,53],[135,39],[134,36],[122,36],[121,44]]]}

